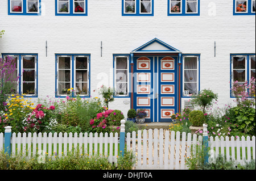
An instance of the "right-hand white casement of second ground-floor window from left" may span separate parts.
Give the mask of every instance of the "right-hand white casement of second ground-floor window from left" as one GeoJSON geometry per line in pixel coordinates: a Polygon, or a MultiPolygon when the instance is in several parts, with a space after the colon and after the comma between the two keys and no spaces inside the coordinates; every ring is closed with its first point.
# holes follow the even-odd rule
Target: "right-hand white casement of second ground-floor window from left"
{"type": "Polygon", "coordinates": [[[89,95],[89,58],[88,56],[75,56],[75,94],[89,95]]]}

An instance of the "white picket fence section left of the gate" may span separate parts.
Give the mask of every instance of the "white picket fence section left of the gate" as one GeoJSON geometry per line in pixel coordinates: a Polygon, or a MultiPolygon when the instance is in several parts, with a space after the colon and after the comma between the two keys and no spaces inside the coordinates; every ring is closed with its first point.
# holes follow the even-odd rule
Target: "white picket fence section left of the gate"
{"type": "MultiPolygon", "coordinates": [[[[3,133],[0,133],[0,140],[3,140],[3,133]]],[[[28,158],[36,154],[47,154],[54,159],[56,155],[62,157],[78,151],[83,155],[102,155],[108,157],[109,162],[117,162],[118,142],[118,133],[13,133],[11,153],[22,153],[28,158]]]]}

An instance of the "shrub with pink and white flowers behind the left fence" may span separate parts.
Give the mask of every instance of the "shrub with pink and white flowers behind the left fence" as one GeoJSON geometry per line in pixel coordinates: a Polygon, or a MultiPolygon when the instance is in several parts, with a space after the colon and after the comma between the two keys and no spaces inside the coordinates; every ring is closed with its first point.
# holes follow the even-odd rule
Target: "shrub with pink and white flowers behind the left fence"
{"type": "Polygon", "coordinates": [[[54,116],[55,106],[49,108],[38,104],[36,108],[22,121],[24,132],[49,132],[57,124],[54,116]]]}

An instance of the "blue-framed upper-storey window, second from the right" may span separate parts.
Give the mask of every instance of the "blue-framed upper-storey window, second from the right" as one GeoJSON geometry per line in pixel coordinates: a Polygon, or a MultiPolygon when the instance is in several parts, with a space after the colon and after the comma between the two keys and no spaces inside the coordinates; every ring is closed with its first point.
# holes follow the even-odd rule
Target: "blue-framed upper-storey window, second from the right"
{"type": "Polygon", "coordinates": [[[200,0],[168,0],[168,16],[199,16],[200,0]]]}

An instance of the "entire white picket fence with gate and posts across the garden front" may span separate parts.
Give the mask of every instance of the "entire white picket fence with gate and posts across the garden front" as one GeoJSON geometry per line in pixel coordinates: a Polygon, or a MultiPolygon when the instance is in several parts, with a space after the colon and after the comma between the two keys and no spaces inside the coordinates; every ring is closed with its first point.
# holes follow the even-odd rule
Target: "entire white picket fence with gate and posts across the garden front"
{"type": "MultiPolygon", "coordinates": [[[[53,159],[56,155],[65,156],[69,151],[77,150],[79,154],[102,155],[108,157],[109,162],[117,162],[117,157],[124,147],[132,150],[136,155],[135,169],[188,169],[185,164],[187,158],[199,153],[200,148],[208,148],[209,159],[212,162],[222,154],[226,159],[232,159],[241,165],[255,159],[255,136],[253,137],[210,137],[207,136],[207,125],[203,136],[197,134],[163,131],[163,129],[144,129],[143,131],[124,135],[124,122],[121,125],[120,137],[118,133],[12,133],[11,155],[22,151],[24,157],[35,154],[47,154],[53,159]],[[123,133],[123,134],[122,134],[123,133]],[[206,143],[204,139],[206,138],[206,143]],[[123,146],[121,146],[123,144],[123,146]],[[125,146],[124,146],[125,145],[125,146]],[[197,148],[197,149],[195,149],[197,148]],[[118,150],[119,149],[119,150],[118,150]]],[[[0,133],[0,150],[3,149],[4,137],[0,133]]],[[[7,141],[6,141],[7,142],[7,141]]],[[[5,144],[5,149],[7,145],[5,144]]],[[[7,150],[8,151],[8,150],[7,150]]]]}

